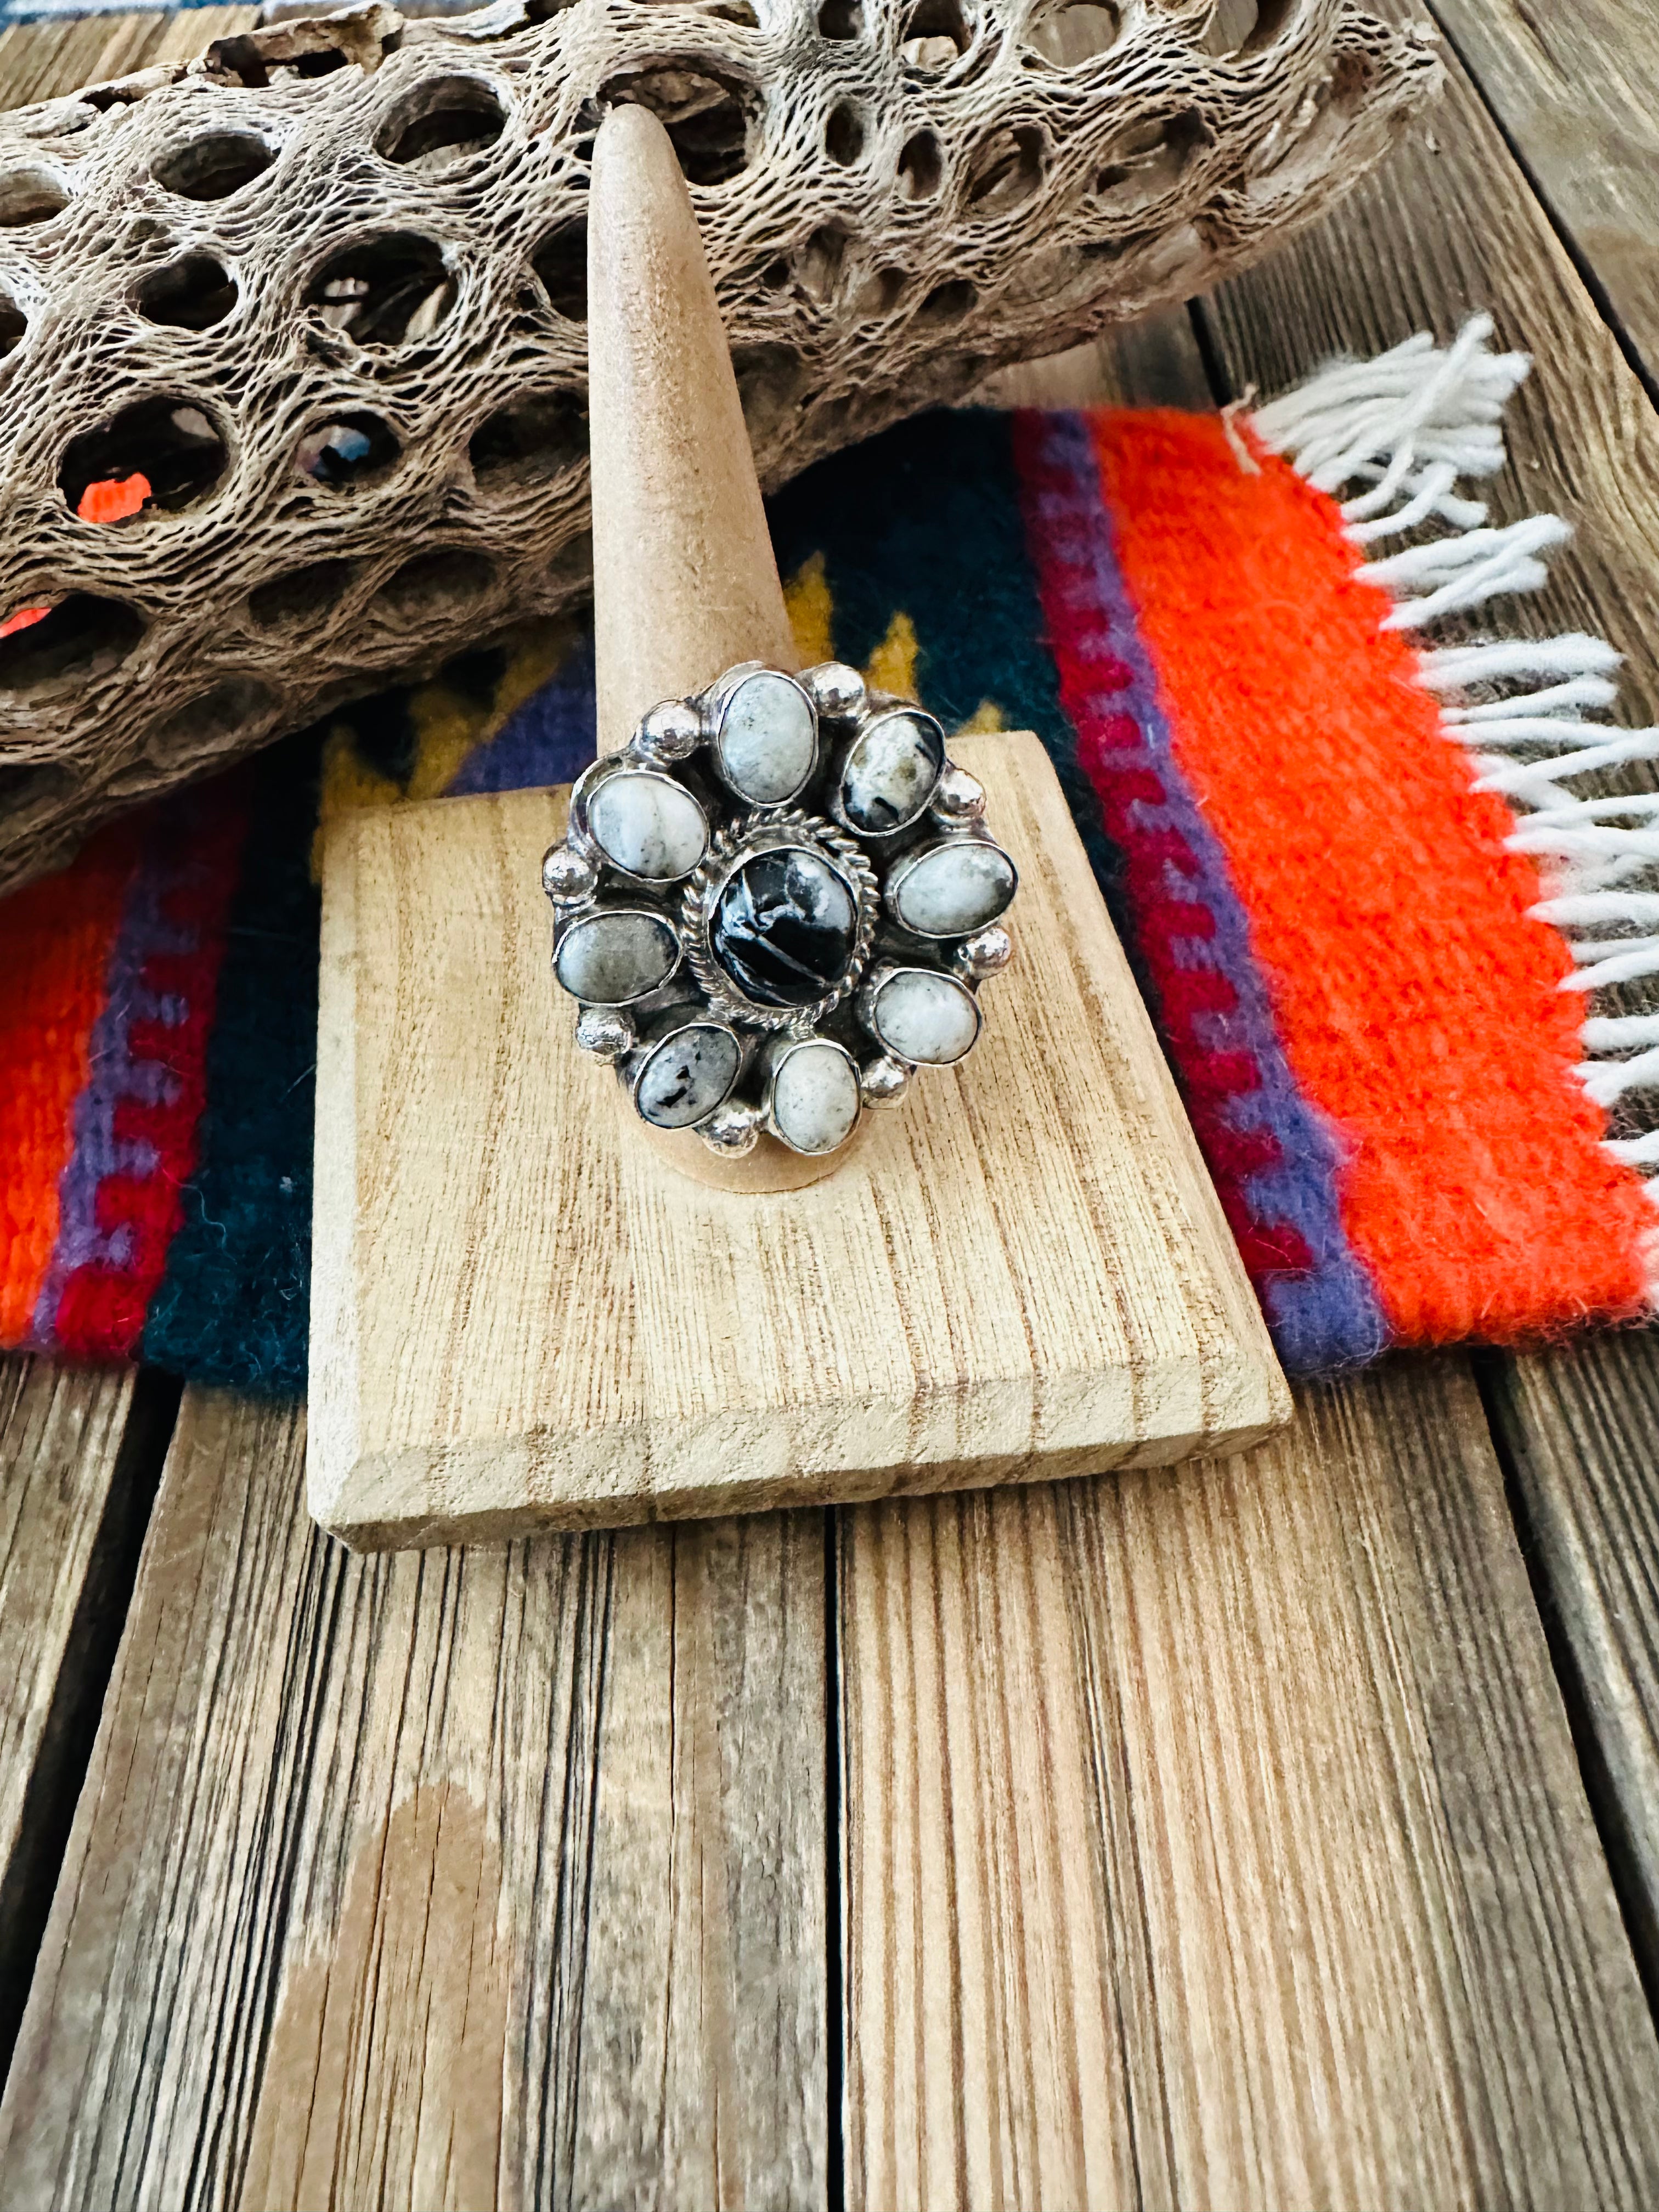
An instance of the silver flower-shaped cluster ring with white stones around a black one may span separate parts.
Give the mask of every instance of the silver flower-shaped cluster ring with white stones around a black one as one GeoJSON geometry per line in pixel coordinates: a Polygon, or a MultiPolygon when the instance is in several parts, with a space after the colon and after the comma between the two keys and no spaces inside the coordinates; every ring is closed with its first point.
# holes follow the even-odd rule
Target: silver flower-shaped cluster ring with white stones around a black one
{"type": "Polygon", "coordinates": [[[542,887],[577,1044],[717,1152],[834,1152],[973,1048],[1013,953],[984,790],[841,661],[743,661],[655,706],[577,781],[542,887]]]}

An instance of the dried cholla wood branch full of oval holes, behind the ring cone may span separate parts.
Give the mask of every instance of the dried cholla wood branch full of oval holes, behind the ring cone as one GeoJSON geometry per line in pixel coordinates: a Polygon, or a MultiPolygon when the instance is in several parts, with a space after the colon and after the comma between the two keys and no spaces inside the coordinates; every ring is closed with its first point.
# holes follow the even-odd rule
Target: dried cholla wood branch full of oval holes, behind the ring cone
{"type": "Polygon", "coordinates": [[[675,139],[776,484],[1203,290],[1433,80],[1352,0],[498,0],[2,117],[0,885],[584,588],[613,102],[675,139]]]}

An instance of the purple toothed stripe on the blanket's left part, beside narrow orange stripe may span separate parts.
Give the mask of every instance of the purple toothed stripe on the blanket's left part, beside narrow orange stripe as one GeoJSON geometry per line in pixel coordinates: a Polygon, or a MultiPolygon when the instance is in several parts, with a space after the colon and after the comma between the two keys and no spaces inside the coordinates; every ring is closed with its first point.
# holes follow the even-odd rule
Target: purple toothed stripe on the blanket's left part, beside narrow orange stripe
{"type": "Polygon", "coordinates": [[[97,1186],[106,1175],[155,1175],[155,1146],[144,1139],[117,1139],[115,1108],[126,1099],[166,1104],[177,1077],[155,1060],[135,1060],[131,1035],[137,1022],[184,1020],[184,1006],[168,993],[153,991],[142,978],[155,953],[195,951],[197,931],[164,916],[168,891],[179,880],[177,841],[148,836],[137,874],[126,894],[122,927],[115,933],[108,964],[108,995],[93,1024],[86,1088],[75,1099],[71,1119],[73,1148],[58,1181],[58,1243],[46,1281],[35,1301],[33,1345],[53,1347],[58,1303],[64,1283],[86,1261],[113,1267],[133,1263],[131,1230],[97,1225],[97,1186]]]}

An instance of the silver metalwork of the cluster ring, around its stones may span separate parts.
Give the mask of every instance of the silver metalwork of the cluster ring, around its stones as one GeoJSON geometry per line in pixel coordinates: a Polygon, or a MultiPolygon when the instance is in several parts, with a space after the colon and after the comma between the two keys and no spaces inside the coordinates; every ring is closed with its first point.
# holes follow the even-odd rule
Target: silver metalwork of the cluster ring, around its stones
{"type": "MultiPolygon", "coordinates": [[[[759,712],[745,728],[745,741],[754,748],[745,754],[745,763],[761,770],[750,781],[765,783],[765,748],[772,737],[776,737],[779,748],[787,748],[787,752],[774,754],[776,765],[801,745],[801,734],[803,726],[794,701],[785,701],[774,726],[768,723],[765,712],[759,712]]],[[[860,792],[860,799],[867,796],[865,812],[876,812],[876,803],[887,810],[898,807],[896,794],[907,790],[909,765],[887,759],[880,768],[869,770],[872,783],[867,794],[860,792]]],[[[785,776],[776,781],[783,783],[785,776]]],[[[914,790],[911,781],[909,792],[914,790]]],[[[982,814],[984,790],[975,776],[951,761],[949,739],[945,739],[938,719],[914,699],[872,692],[858,670],[841,661],[825,661],[799,677],[781,668],[765,668],[761,661],[743,661],[690,699],[664,699],[639,719],[630,741],[619,752],[595,761],[577,779],[571,794],[568,832],[542,860],[542,887],[553,902],[553,960],[560,982],[557,960],[571,933],[611,914],[650,918],[675,945],[672,964],[648,989],[624,1000],[577,1000],[577,1046],[593,1060],[611,1064],[613,1079],[622,1084],[637,1113],[641,1082],[653,1057],[679,1031],[692,1026],[726,1029],[737,1044],[737,1073],[730,1088],[699,1119],[672,1124],[672,1128],[677,1133],[695,1128],[712,1152],[730,1159],[748,1152],[761,1135],[774,1137],[790,1150],[823,1157],[834,1146],[814,1148],[792,1141],[774,1115],[779,1068],[799,1046],[830,1046],[852,1071],[856,1079],[852,1126],[841,1139],[847,1141],[865,1113],[902,1104],[918,1066],[960,1066],[982,1033],[980,989],[1011,956],[1002,914],[1018,889],[1013,860],[989,836],[982,814]],[[732,699],[757,675],[785,681],[812,717],[807,774],[787,796],[759,803],[732,783],[719,745],[732,699]],[[872,730],[896,714],[920,719],[929,732],[938,730],[938,770],[927,796],[902,821],[889,830],[863,830],[845,810],[849,759],[872,730]],[[708,838],[692,867],[670,876],[639,876],[597,843],[593,801],[613,779],[622,776],[672,783],[699,807],[708,838]],[[931,854],[964,847],[998,852],[1009,869],[1009,900],[995,916],[978,920],[971,929],[918,931],[914,922],[902,920],[896,891],[931,854]],[[750,898],[741,902],[741,925],[732,914],[723,918],[723,929],[734,929],[728,958],[748,969],[752,962],[737,947],[750,947],[759,960],[750,975],[757,984],[763,980],[768,958],[781,962],[783,969],[792,967],[796,975],[805,971],[812,982],[827,975],[832,962],[841,962],[834,984],[805,1004],[774,1006],[750,998],[714,953],[714,925],[732,878],[768,852],[810,854],[834,874],[854,907],[852,936],[845,938],[843,914],[836,911],[830,925],[830,916],[807,894],[801,878],[787,876],[783,885],[765,883],[763,891],[754,885],[748,887],[750,898]],[[843,942],[845,960],[841,958],[843,942]],[[874,1022],[876,998],[883,980],[902,971],[938,975],[951,991],[962,991],[973,1000],[975,1033],[956,1060],[909,1062],[880,1037],[874,1022]]],[[[677,821],[675,812],[666,821],[670,825],[666,843],[672,854],[672,830],[686,830],[688,823],[677,821]]],[[[648,843],[648,838],[639,838],[639,849],[644,852],[648,843]]],[[[690,836],[684,836],[681,849],[688,847],[690,836]]],[[[763,876],[770,874],[763,872],[763,876]]],[[[834,905],[838,909],[841,902],[834,900],[834,905]]],[[[916,1033],[914,1042],[931,1040],[916,1033]]],[[[845,1106],[841,1077],[832,1091],[836,1102],[845,1106]]],[[[668,1128],[670,1124],[650,1121],[648,1126],[668,1128]]],[[[796,1137],[805,1137],[807,1126],[810,1121],[796,1119],[796,1137]]]]}

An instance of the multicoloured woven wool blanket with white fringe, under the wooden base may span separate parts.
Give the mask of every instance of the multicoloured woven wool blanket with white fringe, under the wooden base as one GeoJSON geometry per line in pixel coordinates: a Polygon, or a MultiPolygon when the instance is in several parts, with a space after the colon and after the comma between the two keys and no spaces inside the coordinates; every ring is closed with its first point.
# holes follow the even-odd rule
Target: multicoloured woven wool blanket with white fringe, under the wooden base
{"type": "MultiPolygon", "coordinates": [[[[1586,1009],[1659,969],[1659,801],[1571,783],[1659,732],[1590,719],[1606,646],[1489,628],[1566,535],[1467,491],[1524,372],[1475,321],[1252,418],[938,414],[772,504],[807,661],[1048,748],[1292,1374],[1655,1294],[1659,1018],[1586,1009]]],[[[303,1387],[319,816],[593,743],[549,626],[0,907],[0,1343],[303,1387]]]]}

